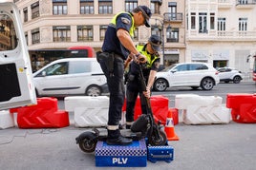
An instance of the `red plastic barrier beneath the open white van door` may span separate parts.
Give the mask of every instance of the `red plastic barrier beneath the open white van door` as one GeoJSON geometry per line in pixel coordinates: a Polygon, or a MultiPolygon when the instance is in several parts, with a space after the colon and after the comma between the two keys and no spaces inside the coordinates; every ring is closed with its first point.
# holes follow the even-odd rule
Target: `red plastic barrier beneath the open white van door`
{"type": "Polygon", "coordinates": [[[20,128],[65,127],[69,114],[57,109],[56,98],[37,98],[37,104],[17,108],[17,123],[20,128]]]}

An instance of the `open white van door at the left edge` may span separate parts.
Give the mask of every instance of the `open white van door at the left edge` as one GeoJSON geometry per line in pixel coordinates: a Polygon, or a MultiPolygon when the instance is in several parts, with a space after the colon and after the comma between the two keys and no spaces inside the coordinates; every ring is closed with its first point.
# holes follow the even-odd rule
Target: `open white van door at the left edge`
{"type": "Polygon", "coordinates": [[[0,2],[0,110],[36,104],[32,66],[18,9],[0,2]]]}

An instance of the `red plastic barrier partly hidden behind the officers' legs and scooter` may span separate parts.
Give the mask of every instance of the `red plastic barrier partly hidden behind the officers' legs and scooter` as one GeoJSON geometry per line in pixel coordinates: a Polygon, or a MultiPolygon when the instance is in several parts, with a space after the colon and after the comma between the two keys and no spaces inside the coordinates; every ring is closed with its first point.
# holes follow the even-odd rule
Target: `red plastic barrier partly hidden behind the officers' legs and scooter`
{"type": "MultiPolygon", "coordinates": [[[[156,95],[152,96],[150,98],[150,103],[151,103],[151,108],[152,112],[154,114],[154,119],[155,122],[165,124],[166,123],[166,118],[168,114],[168,104],[169,104],[169,99],[162,96],[162,95],[156,95]]],[[[122,110],[126,110],[126,104],[123,104],[122,110]]],[[[141,115],[141,107],[140,107],[140,99],[139,97],[137,98],[136,105],[135,105],[135,115],[134,119],[135,121],[139,118],[141,115]]]]}

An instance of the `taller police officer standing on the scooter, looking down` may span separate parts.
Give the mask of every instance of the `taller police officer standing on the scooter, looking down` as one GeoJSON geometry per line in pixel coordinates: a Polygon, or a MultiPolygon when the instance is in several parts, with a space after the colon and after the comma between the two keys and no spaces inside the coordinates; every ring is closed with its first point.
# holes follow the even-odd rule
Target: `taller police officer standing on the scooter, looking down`
{"type": "Polygon", "coordinates": [[[146,57],[139,53],[132,38],[135,29],[139,26],[150,27],[151,15],[151,10],[146,6],[138,6],[132,12],[117,13],[106,30],[102,52],[97,52],[97,61],[106,76],[110,91],[106,141],[108,144],[125,145],[132,142],[131,139],[121,136],[119,131],[125,97],[123,63],[128,55],[132,55],[133,60],[137,62],[146,62],[146,57]]]}

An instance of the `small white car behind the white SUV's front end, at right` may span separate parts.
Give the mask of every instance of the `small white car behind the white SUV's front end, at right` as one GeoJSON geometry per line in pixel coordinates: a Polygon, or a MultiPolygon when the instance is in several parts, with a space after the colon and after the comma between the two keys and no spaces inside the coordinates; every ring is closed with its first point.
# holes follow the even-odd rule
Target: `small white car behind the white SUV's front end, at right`
{"type": "Polygon", "coordinates": [[[218,68],[220,81],[224,83],[233,82],[234,84],[239,84],[242,78],[241,71],[231,67],[220,67],[218,68]]]}

